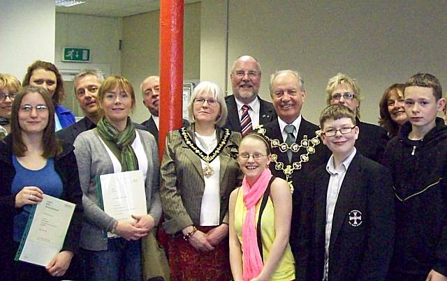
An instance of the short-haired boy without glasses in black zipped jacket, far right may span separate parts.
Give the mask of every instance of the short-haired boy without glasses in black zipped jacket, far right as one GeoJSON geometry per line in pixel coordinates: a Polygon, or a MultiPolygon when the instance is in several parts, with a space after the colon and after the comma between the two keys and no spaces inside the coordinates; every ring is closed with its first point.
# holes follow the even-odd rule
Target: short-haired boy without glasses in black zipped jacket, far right
{"type": "Polygon", "coordinates": [[[447,128],[441,84],[427,73],[404,89],[409,117],[387,146],[393,174],[396,241],[390,280],[447,280],[447,128]]]}

